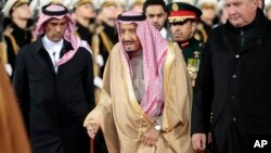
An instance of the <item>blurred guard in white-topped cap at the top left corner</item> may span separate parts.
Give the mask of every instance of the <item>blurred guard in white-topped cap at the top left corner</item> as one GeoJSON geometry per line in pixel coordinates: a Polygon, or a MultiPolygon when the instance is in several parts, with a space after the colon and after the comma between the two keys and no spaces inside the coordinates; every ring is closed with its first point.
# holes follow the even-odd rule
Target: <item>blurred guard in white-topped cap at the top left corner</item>
{"type": "Polygon", "coordinates": [[[20,48],[31,42],[31,12],[28,0],[8,0],[3,7],[3,15],[10,22],[4,26],[4,42],[7,47],[5,69],[13,78],[15,60],[20,48]]]}

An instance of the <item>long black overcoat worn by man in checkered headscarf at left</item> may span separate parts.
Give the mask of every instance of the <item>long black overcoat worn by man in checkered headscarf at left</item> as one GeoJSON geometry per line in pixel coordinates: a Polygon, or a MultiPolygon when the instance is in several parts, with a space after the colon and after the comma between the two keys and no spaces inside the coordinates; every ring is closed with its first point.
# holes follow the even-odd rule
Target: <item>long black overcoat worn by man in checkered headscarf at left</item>
{"type": "MultiPolygon", "coordinates": [[[[72,46],[64,40],[63,55],[72,46]]],[[[41,38],[17,55],[13,86],[34,153],[89,153],[82,123],[94,104],[91,53],[80,47],[54,72],[41,38]]]]}

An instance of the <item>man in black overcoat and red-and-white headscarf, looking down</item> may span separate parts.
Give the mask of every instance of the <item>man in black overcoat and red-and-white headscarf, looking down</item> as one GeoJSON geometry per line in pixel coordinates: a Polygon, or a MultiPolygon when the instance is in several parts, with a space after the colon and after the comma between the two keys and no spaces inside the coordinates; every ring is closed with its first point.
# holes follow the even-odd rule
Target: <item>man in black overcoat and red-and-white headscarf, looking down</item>
{"type": "Polygon", "coordinates": [[[34,153],[89,153],[82,122],[94,104],[92,56],[65,7],[42,8],[37,40],[17,55],[14,89],[34,153]]]}

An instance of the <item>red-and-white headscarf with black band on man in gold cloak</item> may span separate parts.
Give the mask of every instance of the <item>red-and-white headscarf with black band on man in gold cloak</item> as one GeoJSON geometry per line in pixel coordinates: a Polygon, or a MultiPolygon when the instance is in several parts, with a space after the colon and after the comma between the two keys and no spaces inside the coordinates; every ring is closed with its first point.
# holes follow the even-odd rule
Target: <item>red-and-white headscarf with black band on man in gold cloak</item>
{"type": "MultiPolygon", "coordinates": [[[[116,21],[118,34],[120,34],[119,24],[131,23],[138,25],[137,35],[140,39],[143,54],[145,93],[140,106],[150,117],[158,116],[162,113],[164,104],[163,67],[167,51],[167,40],[163,38],[160,33],[152,24],[145,21],[144,14],[136,11],[127,11],[118,16],[116,21]]],[[[129,65],[130,75],[132,76],[133,72],[122,43],[121,50],[129,65]]]]}

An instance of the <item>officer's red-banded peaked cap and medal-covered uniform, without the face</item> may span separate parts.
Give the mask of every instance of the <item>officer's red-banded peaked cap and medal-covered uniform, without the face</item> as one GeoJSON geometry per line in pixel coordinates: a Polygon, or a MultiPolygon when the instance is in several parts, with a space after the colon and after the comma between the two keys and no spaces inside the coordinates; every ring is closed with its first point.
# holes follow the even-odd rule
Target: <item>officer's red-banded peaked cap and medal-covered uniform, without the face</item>
{"type": "MultiPolygon", "coordinates": [[[[173,2],[167,5],[169,13],[169,24],[184,25],[188,21],[198,22],[202,11],[194,5],[184,2],[173,2]]],[[[191,35],[193,35],[191,29],[191,35]]],[[[185,39],[185,38],[183,38],[185,39]]],[[[188,38],[189,40],[177,41],[182,50],[183,58],[188,65],[191,82],[195,85],[195,78],[199,68],[201,53],[203,50],[203,43],[196,40],[193,36],[188,38]]]]}

